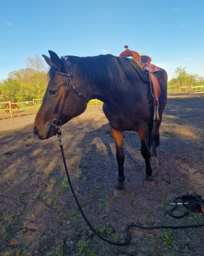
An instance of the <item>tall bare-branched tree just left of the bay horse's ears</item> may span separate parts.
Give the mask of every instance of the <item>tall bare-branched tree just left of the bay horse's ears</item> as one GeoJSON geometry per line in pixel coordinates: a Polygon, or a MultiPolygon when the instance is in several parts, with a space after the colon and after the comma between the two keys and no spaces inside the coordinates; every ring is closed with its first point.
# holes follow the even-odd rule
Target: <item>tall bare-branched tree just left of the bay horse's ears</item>
{"type": "Polygon", "coordinates": [[[29,82],[36,88],[38,98],[44,95],[47,86],[47,72],[44,61],[38,54],[26,58],[26,67],[31,70],[29,82]]]}

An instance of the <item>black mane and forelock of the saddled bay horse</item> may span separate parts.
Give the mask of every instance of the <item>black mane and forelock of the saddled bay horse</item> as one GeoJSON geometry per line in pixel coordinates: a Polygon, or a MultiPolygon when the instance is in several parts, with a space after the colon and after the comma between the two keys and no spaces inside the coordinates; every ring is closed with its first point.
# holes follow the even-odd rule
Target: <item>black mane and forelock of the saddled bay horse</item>
{"type": "MultiPolygon", "coordinates": [[[[137,73],[139,73],[139,68],[134,61],[128,58],[118,58],[111,54],[94,57],[64,56],[64,58],[68,59],[73,66],[76,66],[87,82],[100,83],[104,88],[109,85],[120,87],[124,75],[131,83],[138,79],[137,73]]],[[[56,68],[51,67],[49,77],[55,71],[56,68]]]]}

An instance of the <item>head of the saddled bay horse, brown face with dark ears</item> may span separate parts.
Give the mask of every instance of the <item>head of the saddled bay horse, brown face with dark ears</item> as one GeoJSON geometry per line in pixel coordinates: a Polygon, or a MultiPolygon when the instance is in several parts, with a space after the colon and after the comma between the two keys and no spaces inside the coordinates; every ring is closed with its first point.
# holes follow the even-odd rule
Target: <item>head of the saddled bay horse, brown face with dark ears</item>
{"type": "Polygon", "coordinates": [[[56,119],[63,104],[66,87],[69,81],[69,94],[66,98],[60,121],[65,124],[73,117],[80,115],[86,109],[85,98],[79,96],[82,93],[86,97],[86,91],[82,88],[83,81],[78,77],[77,71],[72,67],[70,61],[60,59],[55,52],[49,51],[50,58],[42,55],[50,66],[49,83],[42,100],[42,105],[38,110],[34,123],[34,133],[39,139],[48,139],[55,134],[53,119],[56,119]],[[73,70],[73,71],[72,71],[73,70]],[[73,72],[73,83],[72,83],[73,72]],[[60,74],[61,73],[61,74],[60,74]],[[71,74],[71,76],[69,76],[71,74]],[[74,85],[78,90],[74,91],[74,85]],[[80,93],[78,93],[80,91],[80,93]]]}

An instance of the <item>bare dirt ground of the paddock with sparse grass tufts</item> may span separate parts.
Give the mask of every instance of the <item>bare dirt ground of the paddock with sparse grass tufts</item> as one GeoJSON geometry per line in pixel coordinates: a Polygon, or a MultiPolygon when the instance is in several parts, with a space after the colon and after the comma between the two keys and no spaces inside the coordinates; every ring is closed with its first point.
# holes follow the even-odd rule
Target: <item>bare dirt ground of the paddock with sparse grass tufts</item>
{"type": "MultiPolygon", "coordinates": [[[[155,186],[143,186],[144,159],[138,135],[124,132],[126,194],[115,198],[115,143],[101,106],[62,127],[71,180],[87,218],[113,241],[126,237],[124,224],[204,222],[202,213],[170,217],[178,195],[204,197],[204,97],[170,98],[160,127],[155,186]]],[[[0,120],[0,255],[203,256],[204,228],[139,230],[131,228],[125,247],[93,235],[67,185],[56,137],[33,134],[35,114],[0,120]]],[[[182,206],[178,212],[182,212],[182,206]]]]}

